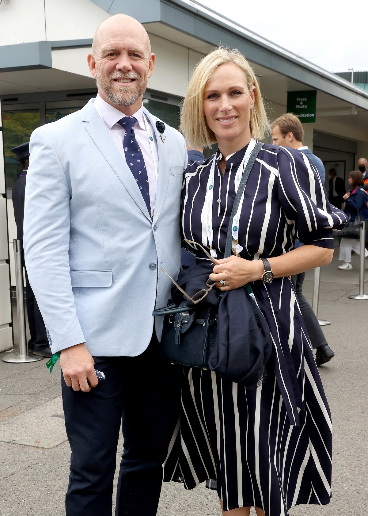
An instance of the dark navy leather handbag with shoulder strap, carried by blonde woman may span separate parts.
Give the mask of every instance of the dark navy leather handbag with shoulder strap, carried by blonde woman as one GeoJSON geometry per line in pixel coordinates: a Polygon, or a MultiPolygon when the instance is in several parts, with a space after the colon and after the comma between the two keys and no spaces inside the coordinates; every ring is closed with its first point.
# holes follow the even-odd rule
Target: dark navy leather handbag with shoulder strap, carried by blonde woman
{"type": "MultiPolygon", "coordinates": [[[[243,172],[230,215],[225,257],[231,254],[233,217],[237,213],[250,170],[262,147],[263,143],[256,144],[243,172]]],[[[160,343],[161,358],[172,364],[207,369],[210,353],[219,334],[217,307],[202,306],[202,303],[194,305],[187,301],[179,305],[170,301],[169,303],[152,313],[154,316],[164,316],[160,343]]]]}

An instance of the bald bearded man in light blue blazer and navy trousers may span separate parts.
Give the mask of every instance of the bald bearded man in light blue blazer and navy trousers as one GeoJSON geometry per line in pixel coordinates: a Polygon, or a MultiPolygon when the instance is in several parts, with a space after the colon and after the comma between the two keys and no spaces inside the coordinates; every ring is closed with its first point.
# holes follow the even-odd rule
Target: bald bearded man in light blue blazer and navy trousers
{"type": "MultiPolygon", "coordinates": [[[[72,449],[66,516],[156,514],[178,417],[180,369],[162,363],[162,320],[180,268],[186,144],[143,108],[155,65],[144,27],[123,14],[88,55],[98,94],[30,140],[25,259],[53,353],[60,352],[72,449]]],[[[56,355],[57,357],[57,355],[56,355]]]]}

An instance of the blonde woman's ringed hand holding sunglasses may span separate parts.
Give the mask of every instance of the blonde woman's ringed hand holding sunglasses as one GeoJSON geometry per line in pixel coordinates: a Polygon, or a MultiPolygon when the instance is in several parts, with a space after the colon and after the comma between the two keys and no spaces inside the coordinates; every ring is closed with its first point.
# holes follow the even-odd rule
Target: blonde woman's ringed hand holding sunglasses
{"type": "Polygon", "coordinates": [[[231,255],[218,260],[219,265],[213,267],[210,280],[216,281],[216,287],[222,292],[246,285],[249,281],[261,279],[263,272],[262,260],[244,260],[239,256],[231,255]],[[225,281],[222,286],[220,281],[225,281]]]}

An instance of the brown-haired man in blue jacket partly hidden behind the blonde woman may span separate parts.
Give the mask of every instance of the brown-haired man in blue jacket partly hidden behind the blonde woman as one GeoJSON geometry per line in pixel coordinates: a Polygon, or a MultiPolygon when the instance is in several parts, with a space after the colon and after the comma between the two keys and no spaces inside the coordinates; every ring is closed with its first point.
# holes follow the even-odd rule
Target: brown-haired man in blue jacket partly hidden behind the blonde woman
{"type": "MultiPolygon", "coordinates": [[[[281,147],[298,149],[300,152],[306,154],[319,172],[322,183],[324,183],[325,167],[319,157],[312,154],[308,147],[303,146],[304,130],[300,120],[292,113],[288,113],[277,118],[273,124],[271,124],[271,128],[273,143],[281,147]]],[[[300,244],[299,240],[296,240],[295,247],[299,247],[300,245],[303,244],[300,244]]],[[[300,272],[299,274],[292,276],[291,281],[295,288],[295,293],[299,301],[300,312],[302,312],[310,342],[313,349],[316,349],[315,362],[317,365],[322,365],[334,357],[334,352],[327,344],[325,335],[321,330],[320,324],[311,305],[303,296],[302,289],[304,278],[305,272],[300,272]]]]}

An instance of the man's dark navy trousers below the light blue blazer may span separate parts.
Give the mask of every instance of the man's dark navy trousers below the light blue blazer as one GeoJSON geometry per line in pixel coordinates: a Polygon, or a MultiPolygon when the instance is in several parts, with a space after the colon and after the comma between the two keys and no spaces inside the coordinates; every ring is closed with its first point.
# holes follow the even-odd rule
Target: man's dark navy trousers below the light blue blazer
{"type": "Polygon", "coordinates": [[[65,427],[71,446],[66,516],[111,516],[120,424],[115,516],[155,516],[162,463],[178,421],[182,368],[163,363],[156,335],[138,357],[93,357],[106,375],[89,393],[62,377],[65,427]]]}

